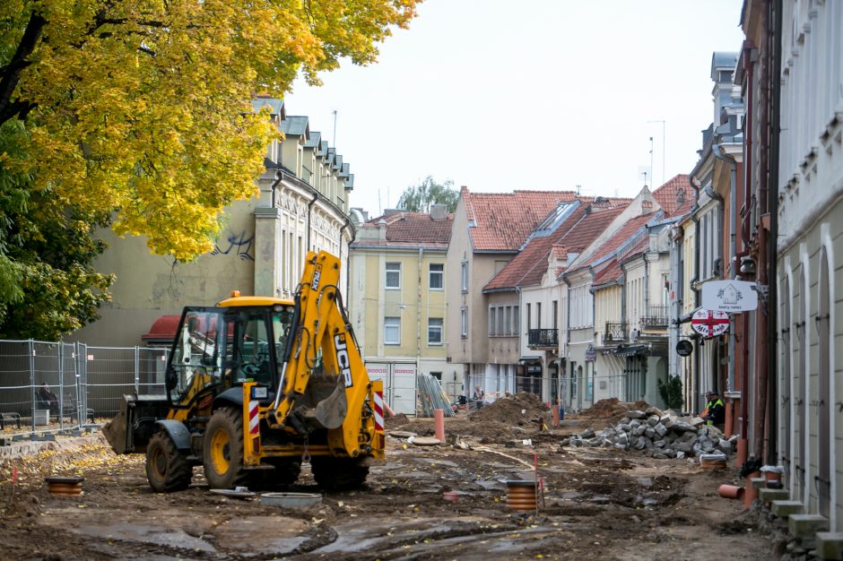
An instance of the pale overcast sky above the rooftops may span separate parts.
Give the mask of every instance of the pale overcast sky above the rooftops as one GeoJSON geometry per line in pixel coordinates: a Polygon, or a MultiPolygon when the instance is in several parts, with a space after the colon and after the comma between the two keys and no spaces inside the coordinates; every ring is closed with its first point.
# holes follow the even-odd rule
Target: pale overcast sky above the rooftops
{"type": "Polygon", "coordinates": [[[740,49],[741,5],[427,0],[377,64],[297,82],[285,108],[336,145],[355,175],[351,204],[370,216],[428,175],[472,191],[632,196],[650,137],[648,185],[696,163],[713,120],[711,54],[740,49]]]}

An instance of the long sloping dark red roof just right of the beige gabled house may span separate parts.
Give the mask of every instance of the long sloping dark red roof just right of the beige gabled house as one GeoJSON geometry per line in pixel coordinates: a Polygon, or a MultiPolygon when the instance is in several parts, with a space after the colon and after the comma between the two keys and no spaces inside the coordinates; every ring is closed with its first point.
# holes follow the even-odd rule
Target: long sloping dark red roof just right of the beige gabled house
{"type": "Polygon", "coordinates": [[[547,271],[547,257],[551,251],[558,259],[564,258],[569,252],[581,252],[612,223],[623,208],[595,208],[590,203],[581,205],[550,236],[530,239],[483,289],[514,289],[540,283],[547,271]]]}

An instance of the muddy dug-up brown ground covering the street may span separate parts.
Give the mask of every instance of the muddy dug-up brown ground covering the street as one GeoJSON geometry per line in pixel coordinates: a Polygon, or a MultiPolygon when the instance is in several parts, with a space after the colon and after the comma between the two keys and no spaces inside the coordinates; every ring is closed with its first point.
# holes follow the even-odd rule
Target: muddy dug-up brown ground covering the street
{"type": "MultiPolygon", "coordinates": [[[[561,448],[561,437],[619,413],[587,412],[539,432],[543,405],[517,395],[446,419],[450,442],[389,437],[368,487],[323,493],[281,509],[210,493],[201,468],[187,491],[146,483],[143,457],[117,457],[99,432],[56,449],[0,453],[3,559],[772,559],[743,504],[717,496],[735,470],[653,460],[603,448],[561,448]],[[523,412],[522,412],[523,411],[523,412]],[[531,444],[525,444],[525,440],[531,444]],[[508,479],[543,480],[537,512],[507,507],[508,479]],[[12,484],[12,473],[18,480],[12,484]],[[50,496],[43,478],[84,477],[82,496],[50,496]]],[[[432,434],[430,419],[387,430],[432,434]]],[[[291,491],[319,493],[305,466],[291,491]]]]}

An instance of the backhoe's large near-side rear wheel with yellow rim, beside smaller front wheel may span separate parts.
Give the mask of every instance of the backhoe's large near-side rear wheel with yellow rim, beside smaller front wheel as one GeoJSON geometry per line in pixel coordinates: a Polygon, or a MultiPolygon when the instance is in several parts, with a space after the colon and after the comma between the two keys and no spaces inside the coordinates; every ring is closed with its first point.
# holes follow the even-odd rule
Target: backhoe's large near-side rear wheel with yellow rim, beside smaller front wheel
{"type": "Polygon", "coordinates": [[[233,489],[245,484],[243,470],[243,417],[230,407],[213,412],[204,432],[202,464],[212,489],[233,489]]]}

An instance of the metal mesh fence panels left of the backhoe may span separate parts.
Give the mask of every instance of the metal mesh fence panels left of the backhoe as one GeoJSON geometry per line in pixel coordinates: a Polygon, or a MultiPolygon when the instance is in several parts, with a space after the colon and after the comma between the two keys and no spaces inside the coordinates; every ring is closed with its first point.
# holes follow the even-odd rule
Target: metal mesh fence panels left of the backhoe
{"type": "Polygon", "coordinates": [[[82,428],[126,393],[162,395],[169,350],[0,341],[0,436],[82,428]]]}

